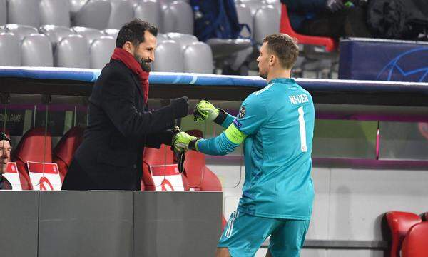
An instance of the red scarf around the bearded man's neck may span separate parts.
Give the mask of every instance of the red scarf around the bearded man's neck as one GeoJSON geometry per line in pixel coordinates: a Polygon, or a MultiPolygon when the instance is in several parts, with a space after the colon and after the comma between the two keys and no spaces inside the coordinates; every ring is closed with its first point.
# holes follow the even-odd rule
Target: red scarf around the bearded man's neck
{"type": "Polygon", "coordinates": [[[148,100],[148,72],[143,71],[143,69],[141,69],[141,65],[134,58],[134,56],[132,56],[132,54],[130,54],[125,49],[116,47],[116,49],[114,49],[113,55],[111,56],[111,59],[122,61],[123,64],[128,67],[128,69],[131,69],[134,74],[138,75],[138,79],[140,80],[141,84],[141,90],[143,91],[144,95],[144,104],[146,105],[148,100]]]}

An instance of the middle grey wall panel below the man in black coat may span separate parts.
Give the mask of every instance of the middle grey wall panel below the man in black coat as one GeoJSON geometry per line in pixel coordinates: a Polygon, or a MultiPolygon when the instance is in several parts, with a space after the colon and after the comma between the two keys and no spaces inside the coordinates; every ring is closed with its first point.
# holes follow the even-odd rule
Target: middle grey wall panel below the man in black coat
{"type": "Polygon", "coordinates": [[[41,191],[39,257],[131,257],[132,191],[41,191]]]}

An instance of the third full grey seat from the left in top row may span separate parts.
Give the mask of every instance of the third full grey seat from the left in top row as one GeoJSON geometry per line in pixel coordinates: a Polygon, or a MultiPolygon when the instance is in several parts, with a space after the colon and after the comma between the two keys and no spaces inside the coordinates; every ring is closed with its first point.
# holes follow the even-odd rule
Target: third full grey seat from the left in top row
{"type": "MultiPolygon", "coordinates": [[[[110,18],[111,4],[108,0],[88,0],[86,4],[71,1],[71,25],[93,29],[106,29],[110,18]]],[[[80,1],[81,2],[81,1],[80,1]]]]}

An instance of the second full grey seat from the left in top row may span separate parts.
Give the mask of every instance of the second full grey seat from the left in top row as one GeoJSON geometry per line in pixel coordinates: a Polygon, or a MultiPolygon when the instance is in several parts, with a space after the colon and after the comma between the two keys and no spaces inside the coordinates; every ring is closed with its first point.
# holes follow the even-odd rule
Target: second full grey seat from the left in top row
{"type": "Polygon", "coordinates": [[[41,0],[40,24],[70,26],[70,4],[68,0],[41,0]]]}

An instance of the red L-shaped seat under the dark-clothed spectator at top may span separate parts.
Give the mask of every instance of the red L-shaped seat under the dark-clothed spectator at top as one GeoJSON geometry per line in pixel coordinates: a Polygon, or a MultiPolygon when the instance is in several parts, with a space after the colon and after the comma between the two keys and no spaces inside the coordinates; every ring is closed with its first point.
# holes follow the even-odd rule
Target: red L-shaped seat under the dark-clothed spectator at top
{"type": "Polygon", "coordinates": [[[325,51],[335,51],[337,49],[337,41],[335,39],[324,36],[306,36],[298,34],[292,29],[290,17],[288,16],[287,6],[282,4],[281,9],[281,24],[280,32],[295,37],[300,44],[310,44],[315,46],[325,46],[325,51]]]}

